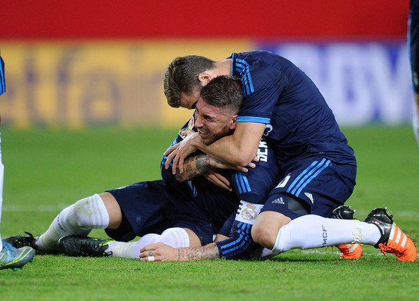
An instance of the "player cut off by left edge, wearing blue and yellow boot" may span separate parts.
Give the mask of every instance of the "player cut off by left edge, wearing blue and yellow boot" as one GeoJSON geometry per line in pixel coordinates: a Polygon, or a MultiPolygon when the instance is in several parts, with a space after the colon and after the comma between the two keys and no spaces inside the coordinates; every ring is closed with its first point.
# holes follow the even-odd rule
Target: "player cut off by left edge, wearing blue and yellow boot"
{"type": "MultiPolygon", "coordinates": [[[[6,82],[4,78],[4,61],[0,56],[0,95],[6,92],[6,82]]],[[[0,116],[1,123],[1,116],[0,116]]],[[[1,143],[1,138],[0,138],[1,143]]],[[[0,222],[1,222],[1,206],[3,204],[3,176],[4,166],[1,162],[0,149],[0,222]]],[[[22,268],[25,264],[34,258],[35,250],[31,247],[15,248],[8,242],[1,240],[0,236],[0,270],[1,269],[17,269],[22,268]]]]}

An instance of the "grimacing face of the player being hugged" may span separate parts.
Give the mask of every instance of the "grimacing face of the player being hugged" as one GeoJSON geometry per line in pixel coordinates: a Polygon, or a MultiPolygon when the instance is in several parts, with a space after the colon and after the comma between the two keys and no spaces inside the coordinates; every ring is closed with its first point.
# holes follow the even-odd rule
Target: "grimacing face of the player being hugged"
{"type": "Polygon", "coordinates": [[[235,117],[237,115],[230,116],[223,109],[208,105],[199,98],[196,103],[195,127],[203,144],[212,144],[221,137],[231,134],[235,129],[235,117]]]}

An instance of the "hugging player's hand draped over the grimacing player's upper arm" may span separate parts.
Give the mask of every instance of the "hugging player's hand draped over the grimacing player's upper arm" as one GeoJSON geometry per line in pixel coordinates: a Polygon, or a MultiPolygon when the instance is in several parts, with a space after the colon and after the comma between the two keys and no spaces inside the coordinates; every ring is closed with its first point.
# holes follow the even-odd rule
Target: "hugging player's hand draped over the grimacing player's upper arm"
{"type": "Polygon", "coordinates": [[[168,160],[166,161],[165,167],[169,169],[170,162],[172,162],[172,173],[176,174],[177,169],[179,173],[183,173],[183,164],[186,157],[191,155],[191,153],[197,151],[197,148],[191,145],[193,139],[200,139],[198,132],[193,131],[184,131],[182,134],[186,134],[186,138],[174,146],[168,148],[164,155],[168,155],[168,160]],[[173,160],[173,161],[172,161],[173,160]]]}

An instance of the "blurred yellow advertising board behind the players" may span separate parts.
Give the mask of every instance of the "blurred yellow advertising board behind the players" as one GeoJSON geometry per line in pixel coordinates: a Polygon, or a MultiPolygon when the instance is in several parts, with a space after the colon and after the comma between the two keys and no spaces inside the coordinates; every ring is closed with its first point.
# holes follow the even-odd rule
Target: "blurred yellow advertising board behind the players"
{"type": "Polygon", "coordinates": [[[179,127],[191,111],[167,105],[163,72],[176,56],[216,61],[253,49],[249,40],[0,41],[6,66],[2,123],[179,127]]]}

